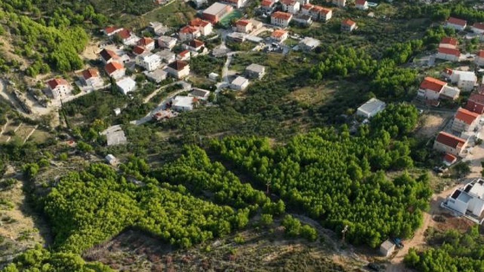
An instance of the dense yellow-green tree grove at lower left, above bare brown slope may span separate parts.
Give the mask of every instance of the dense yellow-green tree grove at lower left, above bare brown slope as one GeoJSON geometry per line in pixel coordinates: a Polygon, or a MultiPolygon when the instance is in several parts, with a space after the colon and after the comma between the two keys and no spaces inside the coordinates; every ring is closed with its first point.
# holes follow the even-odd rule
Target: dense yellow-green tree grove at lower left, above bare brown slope
{"type": "Polygon", "coordinates": [[[79,253],[128,227],[189,247],[248,222],[248,211],[201,200],[181,185],[148,177],[142,182],[138,186],[104,164],[61,178],[40,199],[52,223],[53,247],[79,253]]]}

